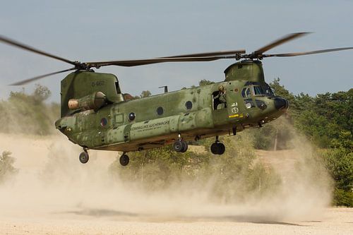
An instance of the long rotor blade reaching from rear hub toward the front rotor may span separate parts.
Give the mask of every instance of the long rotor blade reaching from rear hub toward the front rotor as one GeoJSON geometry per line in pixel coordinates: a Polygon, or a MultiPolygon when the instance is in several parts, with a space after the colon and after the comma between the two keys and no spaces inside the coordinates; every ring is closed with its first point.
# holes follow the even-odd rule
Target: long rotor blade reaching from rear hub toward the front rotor
{"type": "Polygon", "coordinates": [[[205,56],[205,57],[166,57],[153,59],[133,59],[119,61],[103,61],[103,62],[87,62],[85,65],[89,67],[99,68],[101,66],[141,66],[145,64],[157,64],[166,62],[197,62],[197,61],[215,61],[217,59],[237,59],[239,55],[234,56],[205,56]]]}

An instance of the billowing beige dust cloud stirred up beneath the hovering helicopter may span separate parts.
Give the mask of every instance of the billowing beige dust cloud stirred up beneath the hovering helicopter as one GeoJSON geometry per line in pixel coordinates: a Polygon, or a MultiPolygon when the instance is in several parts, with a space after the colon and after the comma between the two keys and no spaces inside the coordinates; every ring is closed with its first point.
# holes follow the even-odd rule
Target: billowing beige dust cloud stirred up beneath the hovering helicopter
{"type": "Polygon", "coordinates": [[[0,217],[80,215],[158,222],[320,219],[330,202],[330,179],[311,146],[301,138],[293,141],[294,150],[259,152],[259,160],[280,175],[278,190],[263,198],[246,195],[245,202],[225,203],[211,199],[212,181],[203,186],[172,183],[166,190],[147,193],[138,183],[121,182],[109,174],[117,152],[90,150],[88,164],[80,164],[80,147],[59,134],[0,134],[0,150],[11,151],[19,169],[16,177],[0,186],[0,217]]]}

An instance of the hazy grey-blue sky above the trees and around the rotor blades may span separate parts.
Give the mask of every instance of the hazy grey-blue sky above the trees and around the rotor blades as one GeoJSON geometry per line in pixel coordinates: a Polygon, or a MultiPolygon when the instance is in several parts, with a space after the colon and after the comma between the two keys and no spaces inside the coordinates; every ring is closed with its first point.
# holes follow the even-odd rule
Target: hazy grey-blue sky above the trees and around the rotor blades
{"type": "MultiPolygon", "coordinates": [[[[253,52],[292,32],[313,32],[267,53],[353,47],[353,1],[4,1],[0,34],[72,61],[145,59],[219,50],[253,52]]],[[[179,90],[201,79],[225,79],[232,59],[107,66],[121,90],[140,95],[168,85],[179,90]]],[[[263,60],[265,80],[280,78],[294,94],[316,95],[353,88],[353,50],[263,60]]],[[[35,83],[18,80],[71,68],[70,64],[0,44],[0,99],[13,90],[32,92],[35,83]]],[[[37,83],[60,99],[61,73],[37,83]]]]}

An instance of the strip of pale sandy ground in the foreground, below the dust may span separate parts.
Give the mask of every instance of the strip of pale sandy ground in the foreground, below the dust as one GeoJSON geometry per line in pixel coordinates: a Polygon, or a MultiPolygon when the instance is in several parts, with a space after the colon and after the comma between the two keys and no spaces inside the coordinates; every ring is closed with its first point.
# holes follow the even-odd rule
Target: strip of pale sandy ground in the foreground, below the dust
{"type": "Polygon", "coordinates": [[[140,217],[118,211],[53,212],[46,217],[1,217],[0,231],[1,234],[353,234],[353,210],[328,209],[319,221],[299,222],[231,216],[140,217]]]}

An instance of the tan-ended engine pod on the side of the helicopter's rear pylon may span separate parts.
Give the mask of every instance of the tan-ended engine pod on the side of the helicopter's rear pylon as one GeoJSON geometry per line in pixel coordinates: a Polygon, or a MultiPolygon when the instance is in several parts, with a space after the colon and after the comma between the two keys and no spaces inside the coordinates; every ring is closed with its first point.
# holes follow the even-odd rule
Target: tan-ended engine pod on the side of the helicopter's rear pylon
{"type": "Polygon", "coordinates": [[[100,109],[107,104],[107,96],[103,92],[94,92],[91,95],[86,95],[80,99],[68,100],[68,108],[75,109],[100,109]]]}

